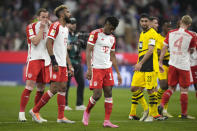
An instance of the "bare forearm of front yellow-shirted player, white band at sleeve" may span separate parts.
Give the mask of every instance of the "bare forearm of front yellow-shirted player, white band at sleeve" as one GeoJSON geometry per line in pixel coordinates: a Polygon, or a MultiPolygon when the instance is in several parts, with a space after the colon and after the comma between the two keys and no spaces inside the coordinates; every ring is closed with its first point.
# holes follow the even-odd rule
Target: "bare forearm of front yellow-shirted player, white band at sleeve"
{"type": "Polygon", "coordinates": [[[134,67],[134,71],[140,71],[142,65],[150,58],[150,56],[153,54],[154,51],[154,47],[155,47],[155,40],[151,39],[149,40],[149,46],[148,46],[148,51],[147,53],[144,55],[144,57],[142,58],[141,61],[139,61],[135,67],[134,67]]]}

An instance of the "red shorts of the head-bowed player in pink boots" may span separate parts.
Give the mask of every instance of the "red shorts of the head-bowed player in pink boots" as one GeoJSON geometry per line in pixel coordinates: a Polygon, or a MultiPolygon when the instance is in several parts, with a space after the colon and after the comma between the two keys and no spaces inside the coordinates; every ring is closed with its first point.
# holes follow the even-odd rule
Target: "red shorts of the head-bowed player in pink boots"
{"type": "Polygon", "coordinates": [[[90,80],[90,89],[102,89],[103,86],[113,86],[114,78],[112,68],[92,69],[92,79],[90,80]]]}

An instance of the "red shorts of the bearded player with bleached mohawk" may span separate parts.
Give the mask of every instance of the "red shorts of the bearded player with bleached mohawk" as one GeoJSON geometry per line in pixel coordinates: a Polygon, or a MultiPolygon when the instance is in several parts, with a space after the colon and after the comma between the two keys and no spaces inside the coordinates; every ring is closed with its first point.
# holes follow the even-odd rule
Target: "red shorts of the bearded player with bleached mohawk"
{"type": "Polygon", "coordinates": [[[51,68],[51,81],[54,82],[67,82],[68,81],[68,72],[67,67],[58,66],[58,72],[54,72],[51,68]]]}

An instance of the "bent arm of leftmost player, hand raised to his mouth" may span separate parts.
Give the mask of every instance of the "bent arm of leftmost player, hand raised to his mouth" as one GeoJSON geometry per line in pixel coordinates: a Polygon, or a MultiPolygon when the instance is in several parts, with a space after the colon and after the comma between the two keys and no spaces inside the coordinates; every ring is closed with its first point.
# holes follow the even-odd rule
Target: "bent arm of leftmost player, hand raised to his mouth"
{"type": "Polygon", "coordinates": [[[44,32],[45,25],[46,24],[44,22],[40,22],[40,29],[39,29],[38,34],[31,39],[31,42],[35,46],[37,46],[40,43],[40,40],[43,38],[43,32],[44,32]]]}

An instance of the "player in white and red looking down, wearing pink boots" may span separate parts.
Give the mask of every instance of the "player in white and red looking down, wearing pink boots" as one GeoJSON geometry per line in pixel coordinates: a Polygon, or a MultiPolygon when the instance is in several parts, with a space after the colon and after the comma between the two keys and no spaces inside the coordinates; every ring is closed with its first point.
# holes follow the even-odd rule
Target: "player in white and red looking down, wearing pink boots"
{"type": "Polygon", "coordinates": [[[93,90],[93,95],[90,97],[88,106],[83,114],[82,122],[85,126],[88,125],[90,111],[102,96],[103,90],[105,97],[105,120],[103,126],[118,127],[110,122],[113,106],[112,87],[114,85],[112,65],[117,72],[118,84],[122,83],[115,56],[116,40],[112,35],[118,24],[119,20],[116,17],[107,17],[104,27],[92,31],[88,39],[86,48],[88,70],[86,77],[90,80],[90,89],[93,90]]]}

